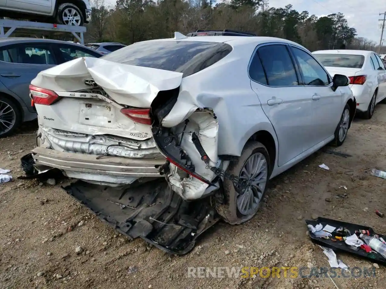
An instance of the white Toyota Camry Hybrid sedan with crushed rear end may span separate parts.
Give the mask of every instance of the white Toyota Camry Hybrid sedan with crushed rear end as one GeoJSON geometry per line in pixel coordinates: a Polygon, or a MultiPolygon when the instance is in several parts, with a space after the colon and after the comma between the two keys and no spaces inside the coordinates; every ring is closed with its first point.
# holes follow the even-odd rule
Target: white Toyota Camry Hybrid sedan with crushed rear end
{"type": "Polygon", "coordinates": [[[242,223],[271,178],[344,142],[356,100],[342,74],[271,37],[176,32],[74,59],[31,82],[33,158],[93,185],[165,178],[183,201],[211,197],[242,223]]]}

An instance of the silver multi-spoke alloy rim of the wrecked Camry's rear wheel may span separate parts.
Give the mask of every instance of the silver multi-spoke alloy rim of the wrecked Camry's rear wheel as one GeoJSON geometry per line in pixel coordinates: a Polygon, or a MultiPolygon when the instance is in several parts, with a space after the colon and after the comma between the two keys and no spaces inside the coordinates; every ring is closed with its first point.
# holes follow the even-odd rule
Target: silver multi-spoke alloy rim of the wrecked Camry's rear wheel
{"type": "Polygon", "coordinates": [[[252,154],[245,162],[239,178],[248,185],[244,192],[237,192],[237,209],[242,215],[254,213],[261,202],[268,177],[267,160],[262,153],[252,154]]]}

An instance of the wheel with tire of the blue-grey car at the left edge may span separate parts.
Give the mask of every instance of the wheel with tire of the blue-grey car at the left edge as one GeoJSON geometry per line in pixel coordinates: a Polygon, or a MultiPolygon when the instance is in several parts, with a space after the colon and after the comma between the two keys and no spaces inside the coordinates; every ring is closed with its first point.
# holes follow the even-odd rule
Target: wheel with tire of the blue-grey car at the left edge
{"type": "Polygon", "coordinates": [[[0,138],[14,133],[21,123],[22,114],[14,100],[0,96],[0,138]]]}

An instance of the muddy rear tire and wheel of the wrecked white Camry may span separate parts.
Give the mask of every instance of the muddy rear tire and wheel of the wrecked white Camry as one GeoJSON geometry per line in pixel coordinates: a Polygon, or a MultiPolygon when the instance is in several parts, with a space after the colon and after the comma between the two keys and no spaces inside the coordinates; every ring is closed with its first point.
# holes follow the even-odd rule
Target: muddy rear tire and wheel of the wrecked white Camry
{"type": "Polygon", "coordinates": [[[256,214],[267,191],[271,165],[266,147],[257,141],[247,142],[240,158],[230,163],[227,172],[250,179],[249,188],[244,193],[237,192],[232,181],[224,179],[223,203],[212,198],[212,205],[225,222],[244,223],[256,214]]]}

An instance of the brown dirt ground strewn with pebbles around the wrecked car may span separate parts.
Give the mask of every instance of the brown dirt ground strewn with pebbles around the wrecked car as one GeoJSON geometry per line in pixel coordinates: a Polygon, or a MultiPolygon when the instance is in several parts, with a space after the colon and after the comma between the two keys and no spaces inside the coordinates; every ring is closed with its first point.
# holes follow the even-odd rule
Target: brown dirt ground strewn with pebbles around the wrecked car
{"type": "MultiPolygon", "coordinates": [[[[379,104],[371,120],[355,119],[344,145],[334,149],[351,157],[315,153],[271,182],[252,220],[238,226],[216,224],[184,256],[116,234],[61,190],[65,182],[52,186],[17,180],[23,175],[19,158],[35,146],[37,124],[25,124],[14,136],[0,139],[0,168],[11,169],[14,177],[13,182],[0,184],[0,287],[384,288],[382,265],[375,277],[340,278],[338,273],[333,281],[283,274],[189,278],[188,267],[328,266],[327,257],[306,234],[305,220],[315,216],[369,225],[385,234],[385,218],[374,210],[386,213],[386,180],[369,174],[371,168],[386,170],[385,123],[386,105],[379,104]],[[322,163],[330,170],[319,168],[322,163]],[[70,226],[74,229],[69,231],[70,226]],[[77,246],[83,249],[80,254],[75,252],[77,246]]],[[[373,266],[349,254],[337,256],[350,270],[373,266]]]]}

